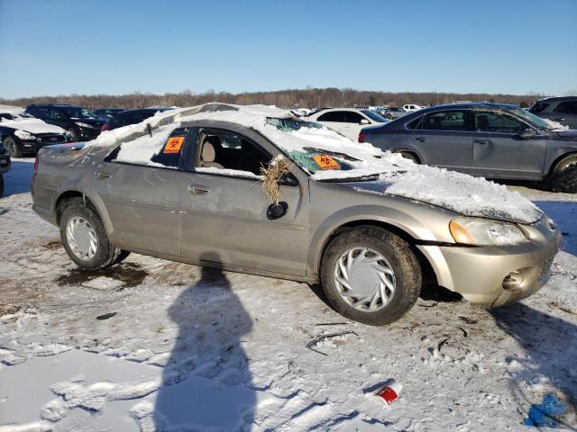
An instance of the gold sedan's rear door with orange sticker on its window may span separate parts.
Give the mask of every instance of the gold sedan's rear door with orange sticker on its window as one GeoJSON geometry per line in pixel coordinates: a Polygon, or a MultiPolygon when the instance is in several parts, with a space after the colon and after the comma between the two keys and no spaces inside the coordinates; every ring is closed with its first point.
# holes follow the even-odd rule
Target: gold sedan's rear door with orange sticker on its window
{"type": "Polygon", "coordinates": [[[179,256],[178,184],[185,174],[178,168],[187,136],[186,128],[174,130],[151,156],[151,165],[142,159],[129,161],[139,160],[138,153],[146,151],[146,135],[126,141],[96,167],[97,193],[105,202],[113,226],[111,240],[118,247],[179,256]],[[179,142],[179,148],[169,142],[179,142]]]}

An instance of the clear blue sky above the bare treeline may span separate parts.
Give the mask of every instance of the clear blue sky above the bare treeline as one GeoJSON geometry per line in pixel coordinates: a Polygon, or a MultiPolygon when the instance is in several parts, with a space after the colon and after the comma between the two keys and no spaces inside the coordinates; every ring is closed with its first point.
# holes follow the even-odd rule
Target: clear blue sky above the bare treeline
{"type": "Polygon", "coordinates": [[[577,92],[577,0],[0,0],[0,97],[577,92]]]}

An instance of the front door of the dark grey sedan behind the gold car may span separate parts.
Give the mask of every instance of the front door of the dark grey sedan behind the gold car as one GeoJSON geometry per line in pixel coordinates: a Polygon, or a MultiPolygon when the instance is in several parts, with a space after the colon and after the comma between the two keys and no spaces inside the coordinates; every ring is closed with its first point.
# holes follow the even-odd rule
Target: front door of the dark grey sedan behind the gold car
{"type": "Polygon", "coordinates": [[[541,179],[547,142],[527,123],[501,111],[474,111],[473,166],[491,178],[541,179]],[[535,135],[522,132],[533,130],[535,135]]]}

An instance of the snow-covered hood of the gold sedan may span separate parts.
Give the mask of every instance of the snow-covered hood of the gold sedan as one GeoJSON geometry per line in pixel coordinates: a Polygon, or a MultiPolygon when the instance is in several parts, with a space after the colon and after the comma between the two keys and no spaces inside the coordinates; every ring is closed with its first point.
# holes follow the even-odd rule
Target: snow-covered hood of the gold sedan
{"type": "Polygon", "coordinates": [[[501,184],[431,166],[381,174],[379,180],[339,182],[360,193],[395,195],[489,219],[530,224],[543,217],[533,202],[501,184]]]}

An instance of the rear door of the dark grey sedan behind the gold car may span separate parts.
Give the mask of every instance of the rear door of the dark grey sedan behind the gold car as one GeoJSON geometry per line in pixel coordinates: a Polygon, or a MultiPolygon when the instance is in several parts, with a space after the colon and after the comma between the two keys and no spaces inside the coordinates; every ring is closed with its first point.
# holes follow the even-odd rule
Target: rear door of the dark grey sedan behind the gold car
{"type": "Polygon", "coordinates": [[[408,148],[421,162],[463,173],[472,172],[472,119],[469,110],[429,112],[408,123],[408,148]]]}

